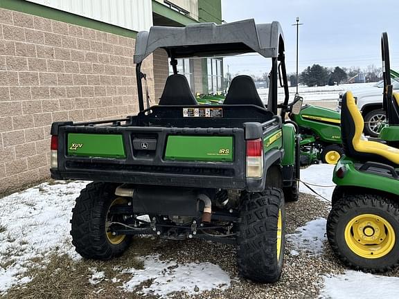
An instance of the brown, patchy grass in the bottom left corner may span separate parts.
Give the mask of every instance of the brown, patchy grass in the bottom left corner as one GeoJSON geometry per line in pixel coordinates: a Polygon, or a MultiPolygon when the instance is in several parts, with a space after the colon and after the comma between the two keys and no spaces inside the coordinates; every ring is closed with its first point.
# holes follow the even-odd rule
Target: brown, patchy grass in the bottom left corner
{"type": "MultiPolygon", "coordinates": [[[[145,243],[145,242],[144,242],[145,243]]],[[[34,262],[34,261],[33,261],[34,262]]],[[[39,261],[37,261],[39,262],[39,261]]],[[[40,264],[40,263],[38,263],[40,264]]],[[[26,276],[33,278],[27,284],[12,287],[3,299],[81,299],[81,298],[142,298],[142,295],[126,293],[121,289],[124,281],[130,279],[129,274],[121,274],[118,269],[143,269],[143,262],[137,259],[137,252],[130,249],[122,257],[106,262],[93,260],[71,260],[69,255],[53,253],[44,267],[32,266],[26,276]],[[93,285],[89,283],[92,271],[104,271],[105,280],[93,285]],[[111,282],[112,278],[121,279],[121,282],[111,282]],[[99,291],[100,290],[100,291],[99,291]]],[[[141,284],[138,288],[145,287],[141,284]]],[[[156,298],[156,297],[145,297],[156,298]]]]}

